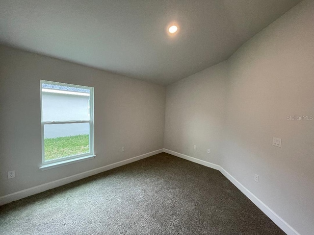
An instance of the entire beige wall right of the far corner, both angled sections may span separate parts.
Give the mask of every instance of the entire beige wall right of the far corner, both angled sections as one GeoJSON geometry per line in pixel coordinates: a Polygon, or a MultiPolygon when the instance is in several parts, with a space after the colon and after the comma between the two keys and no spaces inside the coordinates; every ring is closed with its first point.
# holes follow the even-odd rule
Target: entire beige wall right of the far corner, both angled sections
{"type": "Polygon", "coordinates": [[[304,0],[228,61],[167,87],[164,147],[222,165],[300,234],[313,234],[314,120],[287,120],[314,117],[313,91],[314,1],[304,0]]]}

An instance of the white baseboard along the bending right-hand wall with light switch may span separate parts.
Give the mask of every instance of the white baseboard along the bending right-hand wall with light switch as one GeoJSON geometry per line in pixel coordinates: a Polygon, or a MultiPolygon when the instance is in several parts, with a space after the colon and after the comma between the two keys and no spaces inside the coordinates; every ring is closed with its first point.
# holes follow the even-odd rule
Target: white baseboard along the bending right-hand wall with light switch
{"type": "Polygon", "coordinates": [[[287,235],[300,235],[295,229],[293,229],[285,220],[283,220],[277,213],[271,210],[265,203],[263,203],[257,196],[255,196],[249,189],[245,188],[235,177],[229,174],[220,165],[212,164],[204,160],[193,158],[182,153],[178,153],[169,149],[163,149],[165,153],[172,154],[176,157],[183,158],[193,163],[208,166],[210,168],[219,170],[231,183],[235,185],[245,196],[247,196],[261,211],[263,211],[279,228],[281,228],[287,235]]]}

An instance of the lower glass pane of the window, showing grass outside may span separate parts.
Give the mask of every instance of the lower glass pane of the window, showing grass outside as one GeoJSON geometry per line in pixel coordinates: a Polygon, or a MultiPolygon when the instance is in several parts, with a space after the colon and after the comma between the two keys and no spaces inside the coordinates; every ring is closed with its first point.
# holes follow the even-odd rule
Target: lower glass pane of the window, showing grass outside
{"type": "Polygon", "coordinates": [[[45,161],[90,152],[89,123],[44,125],[45,161]]]}

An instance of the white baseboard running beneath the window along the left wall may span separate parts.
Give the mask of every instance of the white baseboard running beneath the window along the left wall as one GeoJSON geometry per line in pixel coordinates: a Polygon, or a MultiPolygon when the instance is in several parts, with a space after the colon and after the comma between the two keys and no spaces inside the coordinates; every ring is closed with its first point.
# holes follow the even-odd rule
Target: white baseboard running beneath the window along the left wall
{"type": "Polygon", "coordinates": [[[83,179],[83,178],[86,178],[86,177],[89,177],[92,175],[96,175],[96,174],[99,174],[99,173],[104,172],[106,170],[110,170],[110,169],[113,169],[113,168],[116,168],[116,167],[119,167],[119,166],[122,166],[125,164],[136,162],[138,160],[141,160],[141,159],[144,159],[144,158],[147,158],[147,157],[150,157],[150,156],[153,156],[155,154],[162,153],[162,152],[163,152],[163,149],[159,149],[159,150],[156,150],[156,151],[153,151],[150,153],[145,153],[145,154],[142,154],[142,155],[139,155],[139,156],[136,156],[133,158],[129,158],[127,160],[123,160],[123,161],[120,161],[117,163],[105,165],[105,166],[102,166],[102,167],[99,167],[96,169],[92,169],[92,170],[88,170],[88,171],[85,171],[85,172],[82,172],[82,173],[79,173],[76,175],[71,175],[71,176],[68,176],[68,177],[65,177],[65,178],[62,178],[59,180],[55,180],[55,181],[52,181],[52,182],[49,182],[46,184],[42,184],[42,185],[38,185],[38,186],[35,186],[32,188],[26,188],[26,189],[21,190],[21,191],[13,192],[13,193],[1,196],[0,197],[0,205],[4,205],[4,204],[10,203],[10,202],[34,195],[34,194],[46,191],[48,189],[52,189],[52,188],[56,188],[56,187],[59,187],[62,185],[66,185],[66,184],[69,184],[71,182],[74,182],[74,181],[77,181],[77,180],[80,180],[80,179],[83,179]]]}

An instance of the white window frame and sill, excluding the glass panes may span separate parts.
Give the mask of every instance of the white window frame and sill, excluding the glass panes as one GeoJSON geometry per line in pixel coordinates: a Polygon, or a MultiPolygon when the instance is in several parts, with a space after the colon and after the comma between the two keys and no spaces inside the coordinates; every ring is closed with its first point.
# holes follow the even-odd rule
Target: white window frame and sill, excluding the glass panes
{"type": "Polygon", "coordinates": [[[42,146],[42,166],[40,167],[42,170],[55,168],[61,165],[72,164],[88,159],[93,159],[94,155],[94,88],[87,86],[80,86],[74,84],[67,84],[61,82],[52,82],[40,80],[40,113],[41,113],[41,146],[42,146]],[[60,85],[60,86],[68,86],[68,87],[76,87],[88,89],[90,91],[90,99],[89,99],[89,119],[88,120],[71,120],[71,121],[43,121],[43,102],[42,102],[42,84],[52,84],[52,85],[60,85]],[[89,123],[89,152],[84,154],[72,155],[64,158],[58,158],[54,160],[45,161],[45,135],[44,135],[44,126],[50,124],[72,124],[72,123],[89,123]]]}

